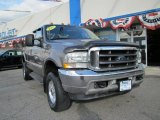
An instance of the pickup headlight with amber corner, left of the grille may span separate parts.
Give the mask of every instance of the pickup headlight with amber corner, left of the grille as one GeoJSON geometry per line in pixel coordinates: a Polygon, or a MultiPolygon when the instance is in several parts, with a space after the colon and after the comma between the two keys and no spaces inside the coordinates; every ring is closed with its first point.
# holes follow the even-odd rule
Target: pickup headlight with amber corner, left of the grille
{"type": "Polygon", "coordinates": [[[68,53],[63,62],[64,68],[87,68],[88,66],[87,52],[68,53]]]}

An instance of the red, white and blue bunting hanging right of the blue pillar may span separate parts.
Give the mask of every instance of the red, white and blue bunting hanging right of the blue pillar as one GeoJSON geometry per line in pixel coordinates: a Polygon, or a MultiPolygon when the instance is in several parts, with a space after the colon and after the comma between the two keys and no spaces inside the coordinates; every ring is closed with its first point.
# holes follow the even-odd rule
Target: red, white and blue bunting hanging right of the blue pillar
{"type": "Polygon", "coordinates": [[[128,29],[133,24],[135,20],[139,20],[140,24],[147,29],[155,30],[160,28],[160,11],[143,14],[139,16],[132,16],[126,18],[119,18],[115,20],[105,21],[102,18],[99,19],[89,19],[85,22],[85,26],[96,26],[100,28],[111,26],[112,29],[116,30],[118,28],[128,29]]]}

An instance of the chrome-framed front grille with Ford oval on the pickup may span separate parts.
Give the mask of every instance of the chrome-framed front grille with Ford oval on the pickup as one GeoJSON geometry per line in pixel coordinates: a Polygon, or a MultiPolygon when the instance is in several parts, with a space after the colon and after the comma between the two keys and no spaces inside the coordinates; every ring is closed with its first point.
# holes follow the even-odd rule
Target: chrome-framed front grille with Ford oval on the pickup
{"type": "Polygon", "coordinates": [[[136,67],[136,47],[93,47],[89,51],[90,68],[94,71],[112,71],[136,67]]]}

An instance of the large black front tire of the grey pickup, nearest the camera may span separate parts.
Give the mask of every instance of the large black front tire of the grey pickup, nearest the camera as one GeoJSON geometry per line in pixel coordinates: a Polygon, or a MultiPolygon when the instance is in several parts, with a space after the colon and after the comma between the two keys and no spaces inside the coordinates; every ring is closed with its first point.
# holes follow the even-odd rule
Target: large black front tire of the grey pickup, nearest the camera
{"type": "MultiPolygon", "coordinates": [[[[49,106],[55,112],[66,110],[71,105],[71,100],[68,94],[63,90],[60,79],[52,72],[49,72],[46,78],[46,92],[49,106]],[[53,103],[49,94],[49,84],[52,83],[54,86],[55,102],[53,103]]],[[[52,93],[53,94],[53,93],[52,93]]]]}

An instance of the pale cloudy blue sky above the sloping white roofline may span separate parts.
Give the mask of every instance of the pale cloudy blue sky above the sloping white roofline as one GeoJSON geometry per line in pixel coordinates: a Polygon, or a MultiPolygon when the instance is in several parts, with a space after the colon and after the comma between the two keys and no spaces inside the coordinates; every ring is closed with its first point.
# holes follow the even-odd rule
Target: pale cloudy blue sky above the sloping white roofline
{"type": "Polygon", "coordinates": [[[0,0],[0,24],[5,24],[6,22],[15,20],[19,17],[39,12],[67,1],[68,0],[61,0],[61,2],[55,2],[55,0],[0,0]],[[13,12],[4,10],[30,12],[13,12]]]}

